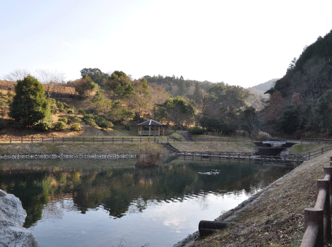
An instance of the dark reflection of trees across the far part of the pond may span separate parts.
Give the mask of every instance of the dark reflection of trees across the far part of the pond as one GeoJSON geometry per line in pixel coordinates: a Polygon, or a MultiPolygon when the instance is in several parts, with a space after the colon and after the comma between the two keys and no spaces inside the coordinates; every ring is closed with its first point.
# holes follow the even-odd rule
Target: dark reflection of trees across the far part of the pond
{"type": "Polygon", "coordinates": [[[142,212],[148,205],[162,200],[184,200],[186,195],[195,196],[202,209],[207,209],[208,199],[204,191],[218,194],[233,191],[236,194],[244,190],[250,193],[285,172],[248,164],[197,161],[174,161],[165,167],[148,169],[105,168],[105,163],[100,164],[102,167],[86,164],[46,167],[42,163],[41,167],[39,164],[31,168],[15,163],[10,169],[1,164],[4,169],[0,169],[0,174],[4,176],[0,177],[0,188],[20,198],[28,213],[25,227],[30,227],[42,217],[42,213],[43,217],[57,219],[62,217],[63,210],[79,210],[84,214],[90,208],[102,205],[110,216],[122,217],[126,213],[142,212]],[[219,169],[220,174],[198,174],[198,171],[212,169],[219,169]],[[63,200],[68,198],[72,201],[63,200]],[[60,203],[68,201],[72,203],[60,203]]]}

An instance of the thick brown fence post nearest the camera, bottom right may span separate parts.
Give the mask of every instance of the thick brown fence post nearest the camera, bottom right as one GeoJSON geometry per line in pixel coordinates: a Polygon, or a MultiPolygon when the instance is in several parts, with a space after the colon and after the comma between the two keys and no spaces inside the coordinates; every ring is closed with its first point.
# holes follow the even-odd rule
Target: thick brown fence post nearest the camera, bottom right
{"type": "Polygon", "coordinates": [[[304,231],[307,230],[308,225],[312,222],[319,226],[314,246],[324,246],[324,210],[312,207],[304,209],[304,231]]]}

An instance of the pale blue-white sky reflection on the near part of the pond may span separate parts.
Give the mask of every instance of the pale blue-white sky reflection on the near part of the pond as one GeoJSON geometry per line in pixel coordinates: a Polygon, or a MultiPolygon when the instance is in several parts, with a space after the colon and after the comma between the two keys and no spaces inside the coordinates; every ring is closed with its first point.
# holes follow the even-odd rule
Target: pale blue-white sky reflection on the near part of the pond
{"type": "Polygon", "coordinates": [[[30,231],[40,246],[173,246],[197,231],[200,220],[213,220],[248,197],[237,191],[161,202],[138,198],[124,217],[115,219],[102,207],[83,215],[73,200],[61,200],[45,205],[42,219],[30,231]]]}

